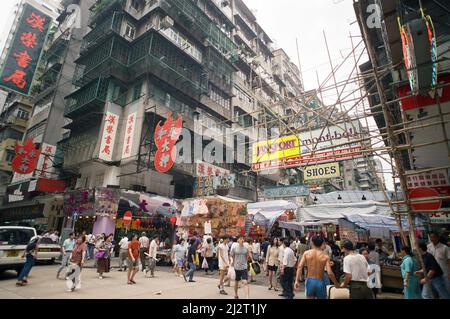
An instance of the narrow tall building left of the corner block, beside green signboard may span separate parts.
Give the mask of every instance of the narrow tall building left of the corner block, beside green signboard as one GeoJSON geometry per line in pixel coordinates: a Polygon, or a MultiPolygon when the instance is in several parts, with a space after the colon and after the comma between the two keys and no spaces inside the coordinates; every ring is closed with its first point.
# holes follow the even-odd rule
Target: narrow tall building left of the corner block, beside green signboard
{"type": "MultiPolygon", "coordinates": [[[[53,2],[43,3],[48,6],[53,2]]],[[[61,4],[57,7],[59,14],[52,15],[55,27],[47,38],[31,89],[28,122],[19,138],[19,141],[33,140],[42,149],[42,154],[33,173],[14,173],[6,189],[7,200],[0,207],[2,223],[26,221],[37,227],[60,228],[63,217],[61,192],[76,180],[76,175],[61,170],[63,153],[58,143],[67,132],[64,128],[67,124],[64,97],[73,91],[74,60],[79,55],[81,39],[86,33],[87,12],[93,0],[54,3],[61,4]],[[67,10],[70,6],[77,10],[67,10]],[[52,180],[51,185],[49,179],[52,180]]],[[[10,157],[13,155],[11,153],[10,157]]]]}

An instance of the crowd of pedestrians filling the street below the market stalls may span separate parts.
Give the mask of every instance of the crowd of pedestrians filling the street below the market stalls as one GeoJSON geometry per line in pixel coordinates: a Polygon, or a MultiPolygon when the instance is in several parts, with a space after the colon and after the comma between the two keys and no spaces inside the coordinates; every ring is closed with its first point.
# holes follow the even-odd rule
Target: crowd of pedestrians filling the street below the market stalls
{"type": "MultiPolygon", "coordinates": [[[[18,286],[28,283],[40,238],[52,235],[56,239],[58,234],[40,233],[27,245],[18,286]]],[[[438,234],[431,233],[428,245],[419,242],[418,249],[402,247],[400,268],[405,299],[450,298],[449,247],[439,239],[438,234]]],[[[134,285],[139,271],[146,277],[155,277],[158,250],[169,245],[170,240],[160,240],[158,236],[149,238],[146,233],[139,237],[123,236],[117,244],[113,234],[71,233],[61,245],[62,262],[56,277],[60,278],[66,269],[68,291],[80,289],[84,264],[94,259],[98,278],[103,279],[112,268],[111,258],[117,248],[118,271],[127,271],[126,283],[134,285]]],[[[196,271],[213,275],[217,270],[219,294],[228,295],[230,292],[225,288],[232,284],[236,299],[239,288],[245,291],[245,297],[250,297],[250,284],[258,275],[267,276],[268,289],[286,299],[293,299],[302,286],[308,299],[325,299],[331,289],[346,289],[351,299],[376,298],[382,288],[381,267],[388,259],[389,253],[381,240],[355,245],[320,236],[295,240],[276,237],[257,240],[243,236],[215,239],[200,238],[195,232],[187,239],[176,237],[170,253],[176,276],[195,283],[196,271]]]]}

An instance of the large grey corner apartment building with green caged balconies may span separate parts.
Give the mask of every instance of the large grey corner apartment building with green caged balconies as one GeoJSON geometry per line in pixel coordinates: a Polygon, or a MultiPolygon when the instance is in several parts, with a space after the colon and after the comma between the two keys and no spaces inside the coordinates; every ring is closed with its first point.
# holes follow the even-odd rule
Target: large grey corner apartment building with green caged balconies
{"type": "MultiPolygon", "coordinates": [[[[64,168],[80,175],[77,188],[115,186],[194,196],[197,164],[175,164],[167,174],[153,167],[136,173],[142,162],[153,161],[155,123],[168,112],[180,114],[194,140],[199,133],[214,135],[227,152],[237,145],[227,145],[225,129],[258,125],[259,110],[270,110],[278,98],[271,40],[242,1],[97,1],[89,26],[76,61],[73,83],[78,89],[67,97],[71,133],[62,142],[64,168]],[[110,154],[104,156],[107,114],[119,124],[110,154]],[[126,122],[133,114],[135,133],[125,143],[126,122]],[[194,127],[196,119],[201,132],[194,127]]],[[[252,131],[246,145],[252,137],[265,138],[252,131]]],[[[249,164],[214,165],[239,173],[249,171],[249,164]]],[[[277,178],[262,177],[258,183],[273,184],[277,178]]],[[[256,174],[248,172],[237,176],[229,195],[256,200],[256,188],[256,174]]]]}

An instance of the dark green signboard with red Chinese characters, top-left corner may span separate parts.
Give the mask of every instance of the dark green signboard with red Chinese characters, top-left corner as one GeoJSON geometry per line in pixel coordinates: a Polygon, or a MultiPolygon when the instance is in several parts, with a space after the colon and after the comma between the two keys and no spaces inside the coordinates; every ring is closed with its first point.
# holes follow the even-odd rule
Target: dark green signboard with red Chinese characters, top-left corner
{"type": "Polygon", "coordinates": [[[16,33],[0,72],[0,86],[28,95],[52,19],[29,4],[23,6],[16,33]]]}

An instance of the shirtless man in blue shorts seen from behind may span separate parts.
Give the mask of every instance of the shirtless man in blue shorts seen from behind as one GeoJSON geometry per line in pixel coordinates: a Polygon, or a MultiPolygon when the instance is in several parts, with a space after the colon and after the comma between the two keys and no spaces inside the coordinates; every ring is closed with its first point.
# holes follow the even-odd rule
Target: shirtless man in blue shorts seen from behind
{"type": "Polygon", "coordinates": [[[306,297],[308,299],[326,299],[327,289],[324,281],[325,268],[330,279],[336,287],[339,283],[334,276],[330,265],[330,257],[322,250],[323,239],[315,236],[312,238],[313,249],[307,250],[300,261],[297,269],[297,276],[295,278],[295,289],[300,288],[300,277],[302,276],[302,269],[306,264],[306,297]]]}

